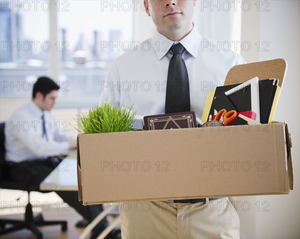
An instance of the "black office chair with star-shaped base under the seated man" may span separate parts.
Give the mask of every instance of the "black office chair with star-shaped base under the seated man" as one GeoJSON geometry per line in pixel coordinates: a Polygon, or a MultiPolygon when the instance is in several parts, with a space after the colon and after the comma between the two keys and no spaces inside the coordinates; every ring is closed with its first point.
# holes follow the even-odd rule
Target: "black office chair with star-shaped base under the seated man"
{"type": "Polygon", "coordinates": [[[5,123],[0,123],[0,188],[5,189],[17,189],[28,192],[28,204],[26,205],[24,220],[10,220],[0,219],[0,235],[8,232],[12,232],[19,229],[27,228],[36,235],[38,239],[42,238],[42,233],[38,230],[37,226],[43,225],[56,225],[61,224],[61,230],[66,231],[66,221],[45,221],[42,218],[42,214],[39,213],[33,217],[32,206],[29,200],[30,191],[40,191],[39,185],[24,185],[22,182],[13,181],[9,176],[9,169],[13,166],[17,166],[17,163],[9,162],[5,160],[5,146],[4,146],[4,127],[5,123]],[[6,227],[6,224],[12,224],[10,227],[6,227]]]}

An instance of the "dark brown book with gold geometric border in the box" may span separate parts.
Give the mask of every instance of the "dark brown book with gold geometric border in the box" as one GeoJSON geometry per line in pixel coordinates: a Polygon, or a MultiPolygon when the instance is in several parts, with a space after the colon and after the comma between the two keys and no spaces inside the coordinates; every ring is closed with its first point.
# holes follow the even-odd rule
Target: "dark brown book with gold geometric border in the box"
{"type": "Polygon", "coordinates": [[[194,111],[148,115],[143,120],[145,130],[197,127],[194,111]]]}

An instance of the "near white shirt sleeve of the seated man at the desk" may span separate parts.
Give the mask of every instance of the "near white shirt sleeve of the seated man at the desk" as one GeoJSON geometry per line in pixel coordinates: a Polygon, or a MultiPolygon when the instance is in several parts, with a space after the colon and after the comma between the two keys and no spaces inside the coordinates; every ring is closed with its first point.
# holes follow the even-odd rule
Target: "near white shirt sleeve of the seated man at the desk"
{"type": "MultiPolygon", "coordinates": [[[[36,157],[48,157],[60,154],[69,149],[68,141],[56,142],[53,139],[47,141],[41,137],[39,121],[24,121],[23,114],[16,114],[11,118],[9,133],[36,157]],[[30,125],[26,126],[26,125],[30,125]]],[[[52,125],[53,126],[53,125],[52,125]]]]}

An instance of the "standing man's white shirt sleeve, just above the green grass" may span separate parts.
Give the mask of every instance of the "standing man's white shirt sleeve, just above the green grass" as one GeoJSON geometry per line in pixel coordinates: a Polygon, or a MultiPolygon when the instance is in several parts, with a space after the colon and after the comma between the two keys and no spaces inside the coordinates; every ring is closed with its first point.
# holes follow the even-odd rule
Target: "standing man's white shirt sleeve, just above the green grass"
{"type": "Polygon", "coordinates": [[[99,105],[111,102],[120,107],[120,79],[116,62],[113,62],[108,70],[105,81],[101,82],[101,96],[99,105]]]}

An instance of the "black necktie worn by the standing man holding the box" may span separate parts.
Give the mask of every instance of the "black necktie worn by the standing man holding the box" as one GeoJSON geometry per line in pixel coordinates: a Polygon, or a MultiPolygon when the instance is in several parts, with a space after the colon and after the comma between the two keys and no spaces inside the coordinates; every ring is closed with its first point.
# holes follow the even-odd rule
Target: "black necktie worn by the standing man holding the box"
{"type": "Polygon", "coordinates": [[[188,74],[182,53],[181,43],[171,46],[173,56],[167,72],[165,113],[190,111],[188,74]]]}

